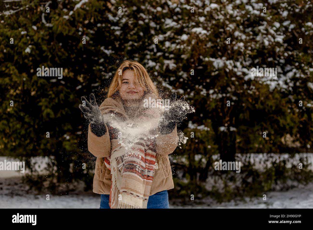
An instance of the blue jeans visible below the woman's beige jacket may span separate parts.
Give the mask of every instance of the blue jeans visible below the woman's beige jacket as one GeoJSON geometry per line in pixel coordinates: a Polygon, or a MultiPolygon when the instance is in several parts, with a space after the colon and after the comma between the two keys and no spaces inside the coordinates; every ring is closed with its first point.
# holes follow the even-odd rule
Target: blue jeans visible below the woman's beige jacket
{"type": "MultiPolygon", "coordinates": [[[[110,208],[109,196],[107,194],[101,194],[100,208],[110,208]]],[[[147,208],[170,208],[167,190],[149,196],[147,208]]]]}

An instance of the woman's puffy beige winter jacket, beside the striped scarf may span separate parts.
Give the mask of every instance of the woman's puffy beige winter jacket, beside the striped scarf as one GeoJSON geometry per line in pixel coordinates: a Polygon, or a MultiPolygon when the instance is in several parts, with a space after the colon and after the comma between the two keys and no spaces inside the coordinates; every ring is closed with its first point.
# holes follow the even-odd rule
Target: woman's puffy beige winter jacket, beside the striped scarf
{"type": "MultiPolygon", "coordinates": [[[[105,99],[100,105],[100,110],[102,114],[108,113],[110,111],[116,111],[126,119],[129,119],[129,117],[126,115],[121,98],[119,96],[115,99],[105,99]]],[[[93,192],[98,194],[110,194],[111,188],[112,175],[104,163],[104,157],[110,155],[111,142],[109,131],[106,125],[105,128],[106,133],[101,137],[96,136],[91,131],[90,124],[88,130],[88,150],[97,157],[95,165],[95,176],[93,180],[93,192]]],[[[172,133],[167,135],[159,134],[156,137],[156,163],[158,168],[155,169],[150,196],[157,192],[174,188],[172,169],[168,155],[176,149],[177,144],[177,126],[172,131],[172,133]]]]}

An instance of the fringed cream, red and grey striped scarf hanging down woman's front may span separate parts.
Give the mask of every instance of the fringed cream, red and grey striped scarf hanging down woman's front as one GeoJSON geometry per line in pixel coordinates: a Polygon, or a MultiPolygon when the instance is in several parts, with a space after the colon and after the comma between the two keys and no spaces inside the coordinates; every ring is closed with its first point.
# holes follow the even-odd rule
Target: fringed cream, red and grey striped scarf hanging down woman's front
{"type": "Polygon", "coordinates": [[[112,150],[110,156],[105,157],[105,165],[112,174],[110,208],[147,208],[156,166],[155,142],[139,138],[126,150],[116,133],[110,133],[112,150]]]}

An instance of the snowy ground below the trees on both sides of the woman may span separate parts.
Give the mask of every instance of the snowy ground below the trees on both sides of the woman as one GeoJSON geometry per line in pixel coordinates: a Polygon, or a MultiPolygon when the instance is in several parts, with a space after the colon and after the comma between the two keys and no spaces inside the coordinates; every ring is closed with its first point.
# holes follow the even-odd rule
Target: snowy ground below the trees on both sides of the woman
{"type": "MultiPolygon", "coordinates": [[[[0,157],[3,161],[4,157],[0,157]]],[[[22,173],[0,171],[0,208],[99,208],[100,195],[93,192],[75,191],[69,195],[35,194],[22,183],[22,173]]],[[[170,191],[169,191],[170,195],[170,191]]],[[[213,199],[203,199],[199,204],[190,201],[182,205],[170,199],[171,208],[313,208],[313,183],[299,186],[286,192],[268,192],[263,197],[246,198],[245,201],[217,203],[213,199]]]]}

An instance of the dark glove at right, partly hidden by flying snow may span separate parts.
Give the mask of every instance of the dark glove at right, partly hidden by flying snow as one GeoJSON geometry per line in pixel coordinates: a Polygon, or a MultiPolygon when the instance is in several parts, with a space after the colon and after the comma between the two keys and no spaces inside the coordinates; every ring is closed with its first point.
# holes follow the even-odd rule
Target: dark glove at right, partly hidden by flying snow
{"type": "Polygon", "coordinates": [[[176,126],[176,122],[182,121],[186,117],[186,113],[183,111],[183,102],[185,96],[182,96],[180,99],[177,99],[177,94],[172,93],[169,110],[164,112],[164,121],[160,124],[159,129],[162,134],[171,133],[176,126]]]}

